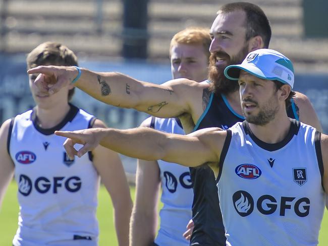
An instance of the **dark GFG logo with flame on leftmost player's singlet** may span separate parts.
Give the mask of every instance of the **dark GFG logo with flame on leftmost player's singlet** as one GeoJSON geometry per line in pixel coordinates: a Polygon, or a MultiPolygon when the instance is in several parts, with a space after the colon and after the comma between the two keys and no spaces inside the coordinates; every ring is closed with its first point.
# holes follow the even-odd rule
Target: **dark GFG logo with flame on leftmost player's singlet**
{"type": "Polygon", "coordinates": [[[21,174],[18,180],[18,191],[25,197],[31,194],[33,188],[36,192],[41,194],[47,192],[57,194],[60,189],[66,189],[69,192],[78,192],[82,185],[81,178],[78,176],[68,178],[52,177],[51,180],[41,176],[32,181],[27,175],[21,174]]]}

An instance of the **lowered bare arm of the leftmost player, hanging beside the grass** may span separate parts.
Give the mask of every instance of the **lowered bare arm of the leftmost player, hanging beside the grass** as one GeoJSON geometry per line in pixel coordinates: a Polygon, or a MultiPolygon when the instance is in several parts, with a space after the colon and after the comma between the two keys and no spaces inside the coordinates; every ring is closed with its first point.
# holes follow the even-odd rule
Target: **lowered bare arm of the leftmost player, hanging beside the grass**
{"type": "MultiPolygon", "coordinates": [[[[96,119],[94,128],[105,128],[96,119]]],[[[114,151],[98,145],[93,151],[93,165],[97,169],[101,181],[112,198],[114,222],[119,245],[129,245],[129,222],[132,211],[132,200],[128,181],[120,157],[114,151]]]]}

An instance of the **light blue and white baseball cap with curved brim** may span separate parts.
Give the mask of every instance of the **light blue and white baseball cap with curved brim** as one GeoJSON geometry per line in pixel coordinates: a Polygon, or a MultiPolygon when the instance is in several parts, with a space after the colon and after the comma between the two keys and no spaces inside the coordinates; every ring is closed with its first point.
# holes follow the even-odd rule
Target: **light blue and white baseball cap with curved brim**
{"type": "Polygon", "coordinates": [[[244,70],[265,80],[279,80],[294,86],[293,64],[285,55],[273,49],[257,49],[247,54],[242,64],[231,65],[225,69],[225,76],[238,80],[240,70],[244,70]]]}

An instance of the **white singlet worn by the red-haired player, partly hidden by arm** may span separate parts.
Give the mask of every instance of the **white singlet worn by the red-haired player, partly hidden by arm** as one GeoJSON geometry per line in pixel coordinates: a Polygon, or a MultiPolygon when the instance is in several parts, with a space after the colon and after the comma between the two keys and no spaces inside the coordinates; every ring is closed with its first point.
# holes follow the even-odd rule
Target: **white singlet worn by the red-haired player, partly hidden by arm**
{"type": "MultiPolygon", "coordinates": [[[[151,118],[151,117],[150,117],[151,118]]],[[[175,118],[154,118],[154,129],[184,135],[175,118]]],[[[159,212],[160,227],[155,238],[159,246],[189,246],[182,234],[192,218],[192,183],[189,168],[176,163],[157,160],[160,170],[163,208],[159,212]]]]}

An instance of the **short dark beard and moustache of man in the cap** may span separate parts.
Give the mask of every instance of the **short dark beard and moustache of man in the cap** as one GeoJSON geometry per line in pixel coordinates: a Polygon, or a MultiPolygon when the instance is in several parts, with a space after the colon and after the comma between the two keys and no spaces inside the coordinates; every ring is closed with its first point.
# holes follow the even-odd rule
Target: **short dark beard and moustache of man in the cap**
{"type": "MultiPolygon", "coordinates": [[[[244,99],[243,102],[251,102],[254,103],[256,106],[258,106],[256,101],[253,101],[252,99],[244,99]]],[[[276,114],[279,110],[279,104],[278,100],[275,97],[275,95],[272,95],[265,104],[260,108],[260,111],[256,115],[249,114],[244,111],[243,108],[243,114],[245,116],[245,119],[248,123],[257,125],[257,126],[265,126],[270,122],[272,119],[276,117],[276,114]]]]}

